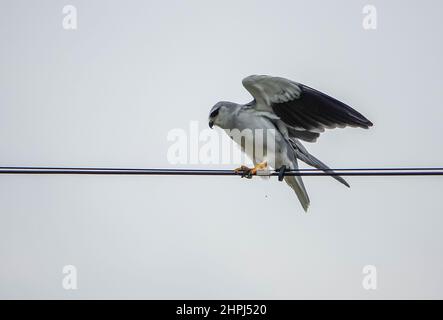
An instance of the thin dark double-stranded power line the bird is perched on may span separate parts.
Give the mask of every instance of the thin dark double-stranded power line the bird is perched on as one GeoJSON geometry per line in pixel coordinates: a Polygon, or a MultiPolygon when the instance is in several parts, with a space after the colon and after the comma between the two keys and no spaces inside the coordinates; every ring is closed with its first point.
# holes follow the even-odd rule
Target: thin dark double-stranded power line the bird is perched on
{"type": "MultiPolygon", "coordinates": [[[[158,175],[158,176],[241,176],[234,170],[208,169],[135,169],[135,168],[66,168],[66,167],[0,167],[4,175],[158,175]]],[[[279,176],[278,170],[262,170],[259,176],[279,176]]],[[[285,171],[287,176],[443,176],[443,168],[345,168],[298,169],[285,171]],[[332,172],[333,171],[333,172],[332,172]]]]}

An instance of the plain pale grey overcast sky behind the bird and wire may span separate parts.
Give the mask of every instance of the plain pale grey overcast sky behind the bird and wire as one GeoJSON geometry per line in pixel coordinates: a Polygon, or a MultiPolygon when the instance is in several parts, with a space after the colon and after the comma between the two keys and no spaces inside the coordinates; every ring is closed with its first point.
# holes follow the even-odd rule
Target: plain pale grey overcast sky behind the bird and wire
{"type": "MultiPolygon", "coordinates": [[[[441,166],[443,3],[372,1],[376,30],[367,4],[2,0],[0,166],[173,167],[168,132],[250,74],[374,123],[305,143],[331,167],[441,166]]],[[[309,214],[275,179],[0,176],[0,298],[443,298],[441,178],[304,180],[309,214]]]]}

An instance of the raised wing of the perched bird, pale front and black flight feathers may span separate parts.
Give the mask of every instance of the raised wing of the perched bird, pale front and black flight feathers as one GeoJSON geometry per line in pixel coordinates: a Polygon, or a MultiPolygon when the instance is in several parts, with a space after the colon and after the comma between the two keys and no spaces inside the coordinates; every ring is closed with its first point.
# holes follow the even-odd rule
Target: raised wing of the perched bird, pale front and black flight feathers
{"type": "Polygon", "coordinates": [[[369,128],[372,122],[350,106],[303,84],[270,76],[249,76],[243,86],[260,111],[275,113],[296,130],[323,132],[346,126],[369,128]]]}

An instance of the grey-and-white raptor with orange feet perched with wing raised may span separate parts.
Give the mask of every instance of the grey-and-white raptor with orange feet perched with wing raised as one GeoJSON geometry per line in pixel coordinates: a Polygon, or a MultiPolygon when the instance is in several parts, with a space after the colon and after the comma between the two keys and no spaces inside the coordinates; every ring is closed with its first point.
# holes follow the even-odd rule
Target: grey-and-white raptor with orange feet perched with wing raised
{"type": "MultiPolygon", "coordinates": [[[[297,159],[300,159],[314,168],[333,173],[299,140],[315,142],[325,129],[346,126],[368,129],[372,126],[371,121],[348,105],[301,83],[266,75],[252,75],[243,79],[242,83],[254,100],[247,104],[218,102],[210,111],[209,127],[218,126],[225,131],[247,129],[263,132],[273,129],[275,143],[270,147],[271,144],[263,139],[266,152],[261,156],[257,156],[255,149],[245,148],[244,140],[234,140],[254,162],[254,168],[241,166],[236,169],[247,177],[267,168],[267,159],[271,156],[274,168],[283,172],[285,169],[298,169],[297,159]]],[[[256,139],[255,135],[252,139],[256,139]]],[[[251,142],[255,145],[256,141],[251,142]]],[[[349,187],[343,178],[332,177],[349,187]]],[[[302,178],[284,176],[284,180],[307,211],[310,201],[302,178]]]]}

